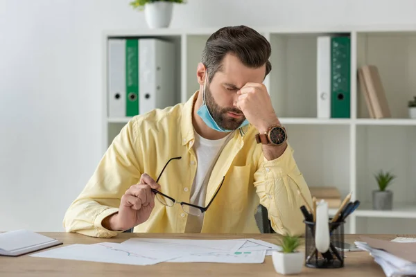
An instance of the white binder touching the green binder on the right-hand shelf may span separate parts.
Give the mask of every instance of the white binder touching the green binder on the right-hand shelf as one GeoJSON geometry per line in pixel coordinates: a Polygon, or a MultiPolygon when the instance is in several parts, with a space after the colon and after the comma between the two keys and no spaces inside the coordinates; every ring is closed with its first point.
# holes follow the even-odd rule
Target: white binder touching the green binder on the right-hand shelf
{"type": "Polygon", "coordinates": [[[331,37],[318,37],[316,61],[318,118],[331,118],[331,37]]]}

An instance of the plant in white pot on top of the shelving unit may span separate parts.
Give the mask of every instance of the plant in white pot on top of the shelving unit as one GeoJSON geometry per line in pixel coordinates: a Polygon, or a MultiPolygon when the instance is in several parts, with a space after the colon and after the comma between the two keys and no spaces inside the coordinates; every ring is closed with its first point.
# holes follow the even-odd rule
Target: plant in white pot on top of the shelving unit
{"type": "Polygon", "coordinates": [[[135,0],[130,6],[144,10],[149,28],[167,28],[171,25],[174,3],[185,3],[185,0],[135,0]]]}

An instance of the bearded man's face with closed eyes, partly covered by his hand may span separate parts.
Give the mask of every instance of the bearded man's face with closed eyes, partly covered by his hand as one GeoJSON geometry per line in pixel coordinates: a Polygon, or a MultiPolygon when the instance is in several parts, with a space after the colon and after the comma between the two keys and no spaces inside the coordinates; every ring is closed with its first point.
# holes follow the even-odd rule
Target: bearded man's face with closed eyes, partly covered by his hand
{"type": "Polygon", "coordinates": [[[234,106],[237,91],[248,82],[262,83],[266,66],[252,69],[234,55],[226,55],[223,69],[217,71],[211,83],[207,81],[205,101],[212,118],[223,129],[237,129],[245,120],[243,111],[234,106]]]}

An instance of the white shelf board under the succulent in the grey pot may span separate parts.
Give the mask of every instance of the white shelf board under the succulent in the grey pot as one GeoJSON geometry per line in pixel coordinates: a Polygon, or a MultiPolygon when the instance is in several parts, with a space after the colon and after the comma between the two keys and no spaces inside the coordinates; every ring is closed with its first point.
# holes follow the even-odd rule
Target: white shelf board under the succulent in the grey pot
{"type": "Polygon", "coordinates": [[[393,203],[392,211],[376,211],[372,210],[371,202],[361,204],[354,215],[357,217],[401,217],[416,218],[416,204],[395,204],[393,203]]]}

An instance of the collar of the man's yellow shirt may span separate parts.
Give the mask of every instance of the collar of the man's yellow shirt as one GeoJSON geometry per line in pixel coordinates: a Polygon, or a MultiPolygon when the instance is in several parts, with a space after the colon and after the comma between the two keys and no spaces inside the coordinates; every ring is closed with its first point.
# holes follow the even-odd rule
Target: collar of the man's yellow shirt
{"type": "MultiPolygon", "coordinates": [[[[182,122],[181,122],[181,132],[182,132],[182,145],[187,145],[189,141],[195,139],[193,133],[193,106],[195,105],[196,99],[198,98],[198,92],[196,91],[193,93],[191,98],[187,102],[185,102],[183,111],[182,111],[182,122]]],[[[239,134],[241,138],[247,134],[248,129],[250,128],[251,124],[245,125],[238,130],[236,130],[236,134],[239,134]]]]}

